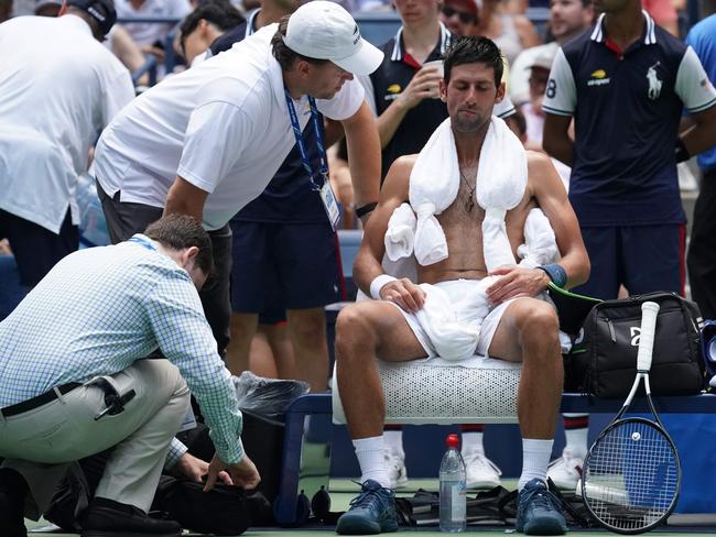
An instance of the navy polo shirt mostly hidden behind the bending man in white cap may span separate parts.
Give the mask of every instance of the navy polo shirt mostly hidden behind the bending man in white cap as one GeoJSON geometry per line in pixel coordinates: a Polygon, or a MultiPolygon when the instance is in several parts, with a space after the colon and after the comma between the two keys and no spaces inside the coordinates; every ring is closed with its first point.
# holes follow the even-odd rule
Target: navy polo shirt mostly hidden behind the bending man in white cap
{"type": "MultiPolygon", "coordinates": [[[[209,47],[211,55],[228,51],[235,43],[243,41],[256,29],[256,15],[249,13],[247,21],[217,37],[209,47]]],[[[323,120],[323,116],[321,116],[323,120]]],[[[323,184],[318,167],[321,157],[317,151],[313,121],[303,130],[303,140],[318,186],[323,184]]],[[[245,222],[323,223],[328,222],[321,196],[312,189],[306,171],[301,162],[299,146],[294,145],[279,167],[271,183],[261,195],[241,209],[234,220],[245,222]]]]}

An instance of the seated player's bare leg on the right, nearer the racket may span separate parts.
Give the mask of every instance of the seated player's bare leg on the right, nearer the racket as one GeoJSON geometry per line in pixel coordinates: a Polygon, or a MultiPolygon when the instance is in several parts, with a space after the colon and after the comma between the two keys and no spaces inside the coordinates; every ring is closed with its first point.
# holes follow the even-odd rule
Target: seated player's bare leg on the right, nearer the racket
{"type": "Polygon", "coordinates": [[[523,362],[517,403],[522,438],[552,439],[564,380],[554,308],[535,298],[514,300],[505,310],[489,352],[523,362]]]}

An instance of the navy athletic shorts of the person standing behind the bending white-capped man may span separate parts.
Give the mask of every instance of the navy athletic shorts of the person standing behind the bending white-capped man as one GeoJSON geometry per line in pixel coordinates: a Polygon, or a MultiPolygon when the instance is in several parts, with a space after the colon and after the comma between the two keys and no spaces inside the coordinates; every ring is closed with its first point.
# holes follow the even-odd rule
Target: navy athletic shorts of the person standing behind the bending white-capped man
{"type": "Polygon", "coordinates": [[[323,307],[341,297],[336,233],[327,223],[231,221],[234,311],[323,307]]]}

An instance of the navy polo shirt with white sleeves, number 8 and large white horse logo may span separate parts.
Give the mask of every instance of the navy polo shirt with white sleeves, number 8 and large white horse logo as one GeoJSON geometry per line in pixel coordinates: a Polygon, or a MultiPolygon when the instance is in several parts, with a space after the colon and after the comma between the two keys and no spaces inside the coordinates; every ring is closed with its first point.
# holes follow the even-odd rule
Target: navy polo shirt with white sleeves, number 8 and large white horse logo
{"type": "Polygon", "coordinates": [[[693,48],[657,26],[626,51],[593,30],[554,59],[544,111],[574,116],[569,200],[582,226],[682,223],[674,147],[682,109],[716,105],[693,48]]]}

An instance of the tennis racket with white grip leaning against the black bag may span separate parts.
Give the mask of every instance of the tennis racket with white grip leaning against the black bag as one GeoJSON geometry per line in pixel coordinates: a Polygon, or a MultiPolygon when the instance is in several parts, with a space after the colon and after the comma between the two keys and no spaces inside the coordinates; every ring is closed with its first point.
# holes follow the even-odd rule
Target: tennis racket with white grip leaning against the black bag
{"type": "Polygon", "coordinates": [[[584,460],[584,503],[605,528],[618,534],[640,534],[660,525],[679,500],[679,453],[654,409],[649,385],[658,313],[657,303],[641,306],[637,377],[621,409],[584,460]],[[654,419],[625,418],[642,379],[654,419]]]}

